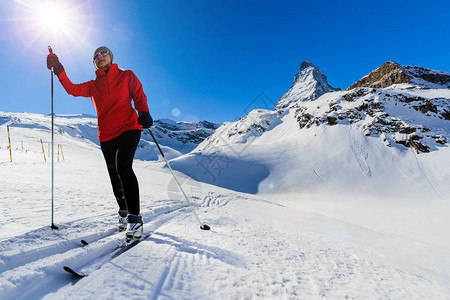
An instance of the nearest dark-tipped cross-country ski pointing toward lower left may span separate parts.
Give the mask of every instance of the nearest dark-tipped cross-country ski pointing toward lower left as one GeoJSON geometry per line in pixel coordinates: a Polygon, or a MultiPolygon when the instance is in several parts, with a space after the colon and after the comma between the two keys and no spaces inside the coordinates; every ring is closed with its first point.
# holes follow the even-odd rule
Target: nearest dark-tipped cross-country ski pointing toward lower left
{"type": "Polygon", "coordinates": [[[110,262],[114,258],[118,257],[119,255],[125,253],[126,251],[130,250],[146,238],[148,238],[150,234],[143,235],[140,239],[137,240],[130,240],[130,239],[121,239],[120,244],[115,247],[112,250],[108,250],[100,257],[94,259],[93,261],[87,263],[84,266],[81,266],[79,268],[71,268],[69,266],[64,266],[64,271],[74,275],[78,278],[83,278],[89,276],[92,272],[100,269],[103,265],[110,262]]]}

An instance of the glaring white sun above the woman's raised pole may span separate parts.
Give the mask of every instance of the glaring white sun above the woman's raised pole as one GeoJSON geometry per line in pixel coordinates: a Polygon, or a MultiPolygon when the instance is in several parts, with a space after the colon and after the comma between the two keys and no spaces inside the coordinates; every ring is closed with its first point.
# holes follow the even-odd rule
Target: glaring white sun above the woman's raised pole
{"type": "Polygon", "coordinates": [[[86,44],[92,28],[89,0],[15,0],[16,31],[27,49],[43,53],[47,46],[70,53],[86,44]]]}

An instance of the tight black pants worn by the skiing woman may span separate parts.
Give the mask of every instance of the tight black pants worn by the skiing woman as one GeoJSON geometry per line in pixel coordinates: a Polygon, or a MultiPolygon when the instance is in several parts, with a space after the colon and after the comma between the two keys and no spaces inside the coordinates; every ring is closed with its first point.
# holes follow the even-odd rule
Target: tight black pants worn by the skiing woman
{"type": "Polygon", "coordinates": [[[140,212],[139,185],[132,168],[140,139],[140,130],[129,130],[100,143],[119,209],[128,210],[133,215],[140,212]]]}

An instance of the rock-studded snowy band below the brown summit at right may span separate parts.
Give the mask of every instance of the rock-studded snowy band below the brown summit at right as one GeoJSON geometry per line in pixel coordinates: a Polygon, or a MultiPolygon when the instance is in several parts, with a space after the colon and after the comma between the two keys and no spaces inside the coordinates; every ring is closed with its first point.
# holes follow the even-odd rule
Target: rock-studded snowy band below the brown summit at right
{"type": "Polygon", "coordinates": [[[430,152],[450,141],[450,106],[445,95],[429,98],[420,89],[361,87],[302,105],[295,117],[300,129],[353,125],[366,136],[382,138],[387,146],[399,144],[417,153],[430,152]]]}

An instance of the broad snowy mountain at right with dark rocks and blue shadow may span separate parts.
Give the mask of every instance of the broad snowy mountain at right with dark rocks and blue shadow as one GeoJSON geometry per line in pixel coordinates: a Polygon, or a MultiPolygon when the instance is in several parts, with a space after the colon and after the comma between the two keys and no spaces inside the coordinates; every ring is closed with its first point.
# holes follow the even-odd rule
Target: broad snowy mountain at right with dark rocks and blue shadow
{"type": "MultiPolygon", "coordinates": [[[[309,100],[291,88],[275,110],[255,109],[222,124],[172,164],[200,181],[248,193],[352,182],[352,193],[440,198],[450,192],[449,73],[397,66],[388,62],[353,88],[309,93],[309,100]],[[405,82],[386,79],[399,72],[405,82]]],[[[293,87],[309,90],[311,81],[300,77],[293,87]]]]}

